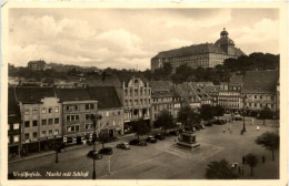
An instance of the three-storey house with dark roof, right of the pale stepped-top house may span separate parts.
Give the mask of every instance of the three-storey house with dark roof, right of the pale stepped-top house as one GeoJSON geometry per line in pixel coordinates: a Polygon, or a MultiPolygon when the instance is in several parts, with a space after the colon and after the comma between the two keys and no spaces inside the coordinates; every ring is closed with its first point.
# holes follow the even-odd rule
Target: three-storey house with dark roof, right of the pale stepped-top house
{"type": "Polygon", "coordinates": [[[63,141],[67,144],[81,143],[93,133],[91,114],[98,112],[98,101],[88,89],[54,89],[62,104],[63,141]]]}

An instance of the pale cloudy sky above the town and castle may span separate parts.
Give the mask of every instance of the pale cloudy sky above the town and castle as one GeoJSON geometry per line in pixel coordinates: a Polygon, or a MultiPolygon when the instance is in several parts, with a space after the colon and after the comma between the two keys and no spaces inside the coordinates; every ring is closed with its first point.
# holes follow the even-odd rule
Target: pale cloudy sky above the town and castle
{"type": "Polygon", "coordinates": [[[246,54],[279,53],[278,9],[11,9],[8,60],[150,69],[161,51],[215,43],[222,29],[246,54]]]}

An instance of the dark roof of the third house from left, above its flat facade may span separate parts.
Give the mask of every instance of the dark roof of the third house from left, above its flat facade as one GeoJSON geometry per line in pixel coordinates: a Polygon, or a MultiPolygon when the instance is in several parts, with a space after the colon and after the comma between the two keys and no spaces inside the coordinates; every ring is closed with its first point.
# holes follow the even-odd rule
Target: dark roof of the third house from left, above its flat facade
{"type": "Polygon", "coordinates": [[[54,91],[61,102],[92,100],[88,89],[54,89],[54,91]]]}

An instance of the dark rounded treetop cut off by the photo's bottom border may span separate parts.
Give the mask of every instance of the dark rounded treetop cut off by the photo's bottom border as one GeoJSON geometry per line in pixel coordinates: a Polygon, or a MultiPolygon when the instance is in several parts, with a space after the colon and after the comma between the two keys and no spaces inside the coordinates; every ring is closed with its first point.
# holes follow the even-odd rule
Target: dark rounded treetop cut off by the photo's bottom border
{"type": "Polygon", "coordinates": [[[206,178],[208,179],[235,179],[237,177],[235,169],[226,159],[210,162],[206,169],[206,178]]]}

